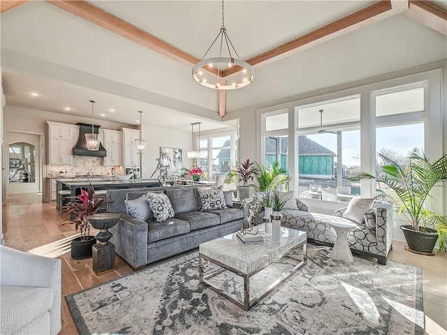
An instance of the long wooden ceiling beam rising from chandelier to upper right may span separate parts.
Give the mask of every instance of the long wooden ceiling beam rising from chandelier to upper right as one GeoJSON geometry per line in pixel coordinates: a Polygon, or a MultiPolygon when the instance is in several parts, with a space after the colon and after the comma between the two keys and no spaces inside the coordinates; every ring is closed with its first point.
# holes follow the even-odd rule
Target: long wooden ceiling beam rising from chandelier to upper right
{"type": "MultiPolygon", "coordinates": [[[[310,43],[315,43],[318,40],[322,40],[323,38],[327,38],[330,35],[333,35],[332,37],[340,36],[346,32],[345,30],[347,28],[352,27],[355,24],[365,24],[372,21],[376,15],[385,13],[391,9],[392,6],[390,1],[380,1],[372,6],[359,10],[356,13],[321,27],[320,29],[316,29],[309,34],[295,38],[294,40],[284,43],[283,45],[279,45],[278,47],[274,47],[272,50],[268,50],[263,54],[258,54],[258,56],[248,59],[247,63],[251,66],[256,66],[264,63],[265,61],[271,61],[272,59],[275,59],[281,55],[296,50],[299,47],[303,47],[305,45],[309,45],[310,43]]],[[[395,15],[395,13],[393,13],[393,15],[395,15]]],[[[222,76],[226,77],[227,75],[232,75],[235,72],[237,71],[233,68],[229,68],[223,71],[222,76]]]]}

